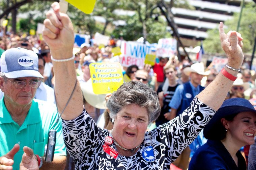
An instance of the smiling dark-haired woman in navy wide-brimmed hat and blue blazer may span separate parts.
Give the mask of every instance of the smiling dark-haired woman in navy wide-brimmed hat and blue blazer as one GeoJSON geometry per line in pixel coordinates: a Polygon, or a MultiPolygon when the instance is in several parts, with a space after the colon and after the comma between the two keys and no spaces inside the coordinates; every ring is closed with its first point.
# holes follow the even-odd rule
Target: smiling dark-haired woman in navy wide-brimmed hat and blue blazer
{"type": "Polygon", "coordinates": [[[246,170],[239,149],[254,144],[256,110],[249,100],[225,100],[218,112],[204,127],[207,143],[192,157],[189,170],[246,170]]]}

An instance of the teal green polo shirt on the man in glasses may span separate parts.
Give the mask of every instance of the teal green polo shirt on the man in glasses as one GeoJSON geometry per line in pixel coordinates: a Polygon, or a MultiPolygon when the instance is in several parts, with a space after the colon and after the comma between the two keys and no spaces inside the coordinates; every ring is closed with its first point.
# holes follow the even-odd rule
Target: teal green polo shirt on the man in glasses
{"type": "Polygon", "coordinates": [[[7,111],[4,98],[0,100],[0,156],[8,153],[16,144],[20,150],[14,157],[13,169],[19,169],[23,155],[23,147],[33,149],[34,154],[44,155],[44,146],[48,142],[48,132],[57,131],[55,155],[66,155],[66,148],[62,136],[61,118],[58,118],[55,104],[34,99],[28,115],[21,126],[14,122],[7,111]]]}

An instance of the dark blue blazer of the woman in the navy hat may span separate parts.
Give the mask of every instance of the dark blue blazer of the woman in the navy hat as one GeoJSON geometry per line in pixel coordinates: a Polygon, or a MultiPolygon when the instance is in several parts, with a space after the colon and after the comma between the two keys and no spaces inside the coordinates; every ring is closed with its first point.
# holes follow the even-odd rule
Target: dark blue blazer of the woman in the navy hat
{"type": "Polygon", "coordinates": [[[240,151],[236,156],[238,167],[221,141],[208,139],[193,155],[189,170],[246,170],[246,162],[240,151]]]}

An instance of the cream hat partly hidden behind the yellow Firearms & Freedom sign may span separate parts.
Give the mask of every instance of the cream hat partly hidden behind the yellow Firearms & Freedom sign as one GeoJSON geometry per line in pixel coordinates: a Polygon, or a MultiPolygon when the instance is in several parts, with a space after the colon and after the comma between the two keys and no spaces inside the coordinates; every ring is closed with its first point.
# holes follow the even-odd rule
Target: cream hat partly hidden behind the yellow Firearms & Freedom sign
{"type": "Polygon", "coordinates": [[[95,94],[92,89],[92,81],[89,79],[86,83],[80,83],[85,100],[97,109],[106,109],[105,94],[95,94]]]}

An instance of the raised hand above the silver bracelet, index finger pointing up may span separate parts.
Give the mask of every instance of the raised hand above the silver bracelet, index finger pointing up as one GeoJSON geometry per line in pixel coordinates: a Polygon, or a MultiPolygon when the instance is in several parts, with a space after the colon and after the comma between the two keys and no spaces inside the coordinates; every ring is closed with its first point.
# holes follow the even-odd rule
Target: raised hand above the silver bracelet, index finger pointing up
{"type": "Polygon", "coordinates": [[[219,32],[221,46],[228,57],[228,65],[235,69],[239,69],[244,60],[244,54],[242,51],[243,47],[243,38],[241,34],[236,31],[229,31],[227,34],[224,32],[224,25],[220,22],[219,32]]]}

